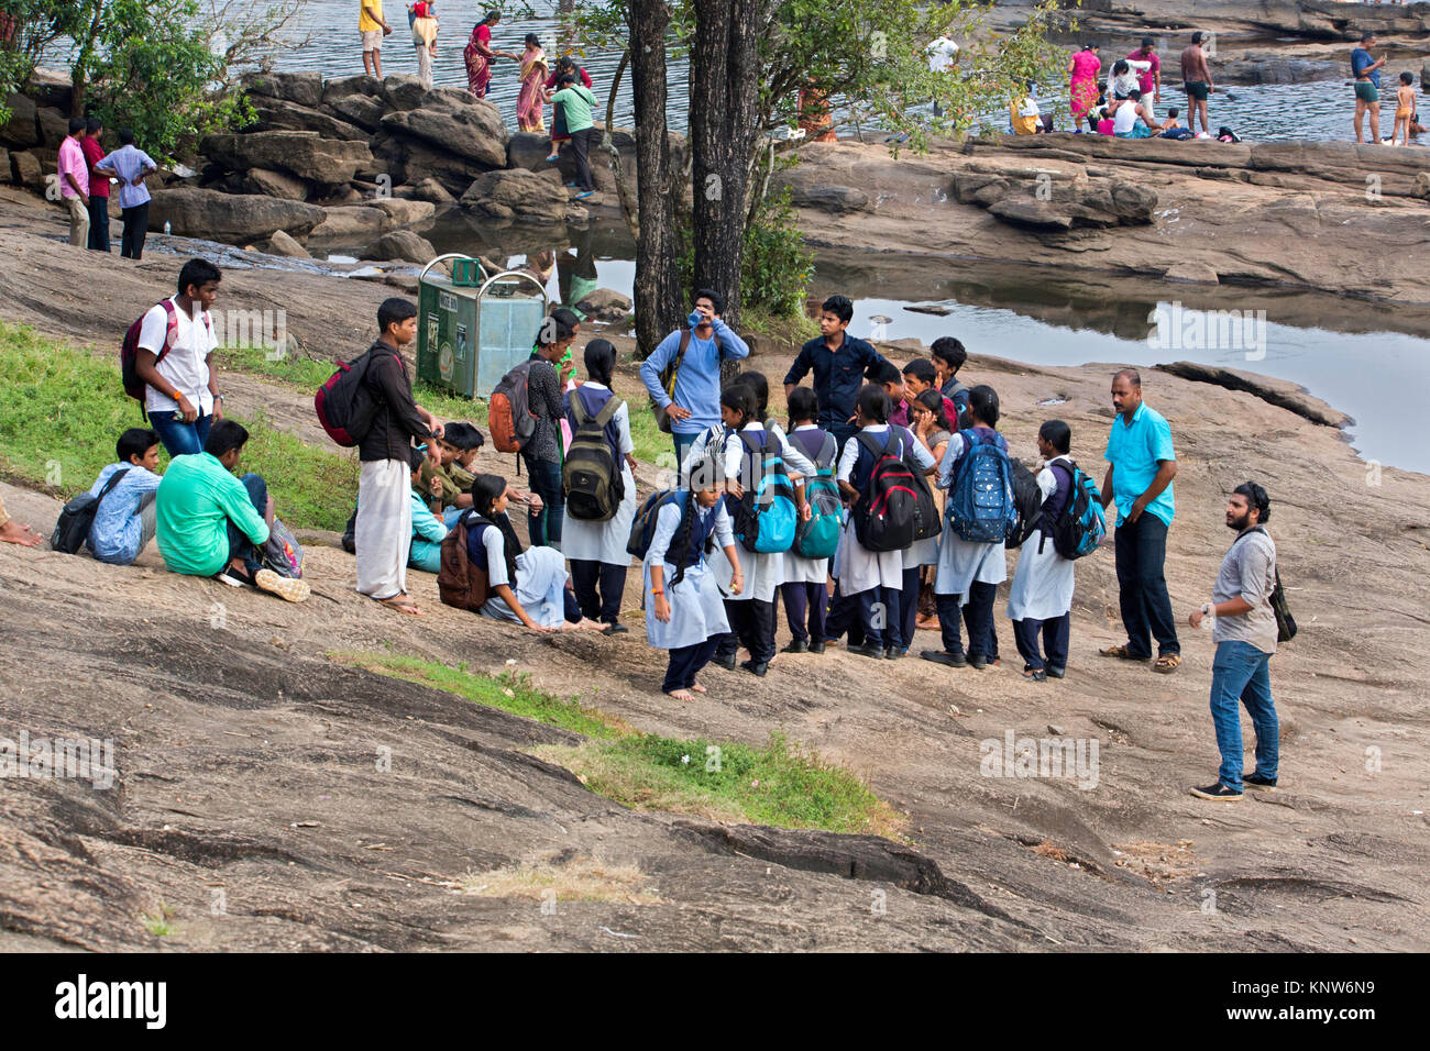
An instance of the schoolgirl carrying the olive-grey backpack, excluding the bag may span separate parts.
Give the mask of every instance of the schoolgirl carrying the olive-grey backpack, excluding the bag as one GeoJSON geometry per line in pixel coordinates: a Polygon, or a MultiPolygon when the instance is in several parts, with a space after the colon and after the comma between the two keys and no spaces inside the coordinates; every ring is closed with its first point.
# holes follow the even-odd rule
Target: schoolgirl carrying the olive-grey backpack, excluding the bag
{"type": "MultiPolygon", "coordinates": [[[[615,398],[611,379],[616,365],[616,349],[605,339],[586,343],[583,355],[586,382],[566,395],[566,422],[571,433],[579,429],[576,405],[586,419],[599,416],[615,398]]],[[[581,613],[589,621],[601,621],[606,635],[626,631],[621,623],[621,598],[625,595],[626,571],[631,555],[626,541],[631,538],[631,522],[635,520],[635,443],[631,440],[631,412],[625,402],[611,416],[605,428],[611,458],[619,470],[621,503],[616,513],[605,522],[588,522],[566,516],[562,531],[562,553],[571,559],[571,582],[581,603],[581,613]]]]}

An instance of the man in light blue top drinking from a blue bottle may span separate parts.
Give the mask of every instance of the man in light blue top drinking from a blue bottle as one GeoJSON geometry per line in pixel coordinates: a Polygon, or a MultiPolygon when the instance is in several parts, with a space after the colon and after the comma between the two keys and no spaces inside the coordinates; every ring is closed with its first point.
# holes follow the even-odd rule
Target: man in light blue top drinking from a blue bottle
{"type": "Polygon", "coordinates": [[[749,345],[721,320],[725,300],[718,292],[698,289],[694,305],[688,319],[689,339],[682,340],[682,332],[672,332],[641,362],[641,382],[651,392],[656,408],[669,416],[676,468],[685,463],[685,453],[695,438],[719,423],[721,360],[749,356],[749,345]],[[682,342],[686,342],[684,353],[682,342]],[[672,390],[661,383],[661,373],[668,365],[675,365],[672,390]]]}

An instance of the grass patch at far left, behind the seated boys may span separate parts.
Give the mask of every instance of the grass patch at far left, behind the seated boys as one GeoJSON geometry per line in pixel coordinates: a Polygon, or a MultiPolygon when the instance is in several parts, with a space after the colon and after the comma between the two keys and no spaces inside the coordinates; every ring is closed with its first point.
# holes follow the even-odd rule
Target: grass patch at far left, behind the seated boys
{"type": "MultiPolygon", "coordinates": [[[[139,408],[119,383],[114,356],[39,336],[0,322],[0,465],[16,478],[57,496],[93,485],[114,462],[114,440],[143,426],[139,408]]],[[[252,438],[240,470],[269,483],[279,516],[299,529],[342,529],[358,493],[358,462],[303,445],[275,430],[262,412],[239,419],[252,438]]],[[[163,453],[160,453],[163,459],[163,453]]]]}

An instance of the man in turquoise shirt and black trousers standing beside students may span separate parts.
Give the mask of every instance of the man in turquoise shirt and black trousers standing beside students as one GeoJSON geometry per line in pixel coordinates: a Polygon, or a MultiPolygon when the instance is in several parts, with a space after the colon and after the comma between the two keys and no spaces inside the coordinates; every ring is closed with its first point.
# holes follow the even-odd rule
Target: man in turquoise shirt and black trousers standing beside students
{"type": "Polygon", "coordinates": [[[1107,438],[1107,476],[1103,506],[1117,503],[1117,588],[1127,643],[1101,651],[1123,661],[1151,658],[1153,671],[1174,672],[1181,663],[1181,643],[1163,575],[1167,562],[1167,529],[1175,503],[1171,480],[1177,476],[1177,453],[1171,428],[1155,409],[1143,403],[1143,378],[1137,369],[1113,376],[1113,432],[1107,438]]]}

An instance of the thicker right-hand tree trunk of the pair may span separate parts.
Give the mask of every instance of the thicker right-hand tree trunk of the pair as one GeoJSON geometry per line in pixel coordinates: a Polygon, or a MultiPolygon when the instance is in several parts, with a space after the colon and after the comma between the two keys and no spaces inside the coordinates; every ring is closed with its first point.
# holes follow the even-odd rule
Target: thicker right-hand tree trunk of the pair
{"type": "Polygon", "coordinates": [[[751,154],[759,134],[759,17],[764,0],[695,0],[691,152],[695,287],[725,297],[739,326],[739,266],[751,154]]]}

